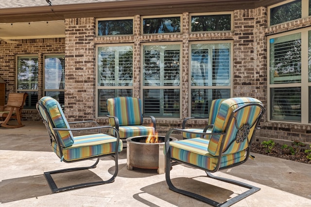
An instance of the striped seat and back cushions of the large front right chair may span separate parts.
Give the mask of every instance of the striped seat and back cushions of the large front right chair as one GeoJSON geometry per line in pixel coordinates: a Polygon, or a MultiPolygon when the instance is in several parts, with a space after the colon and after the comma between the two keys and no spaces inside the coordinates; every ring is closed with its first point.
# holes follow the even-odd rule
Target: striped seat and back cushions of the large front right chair
{"type": "Polygon", "coordinates": [[[239,131],[238,128],[241,128],[245,124],[252,126],[259,117],[261,108],[256,105],[251,105],[238,110],[234,114],[237,118],[238,128],[236,127],[235,119],[229,122],[229,118],[232,111],[249,103],[259,103],[259,105],[262,105],[259,100],[250,97],[225,99],[220,105],[214,127],[212,128],[212,132],[225,132],[225,134],[170,142],[171,157],[209,171],[216,169],[219,159],[221,159],[220,168],[245,160],[248,141],[250,141],[253,135],[256,124],[250,128],[247,138],[242,142],[236,142],[236,135],[239,131]],[[226,128],[227,125],[228,127],[226,128]],[[225,131],[226,129],[227,131],[225,131]],[[222,156],[219,157],[223,139],[224,147],[222,156]]]}

